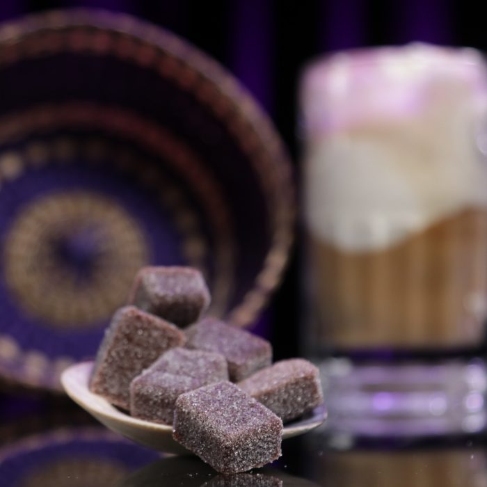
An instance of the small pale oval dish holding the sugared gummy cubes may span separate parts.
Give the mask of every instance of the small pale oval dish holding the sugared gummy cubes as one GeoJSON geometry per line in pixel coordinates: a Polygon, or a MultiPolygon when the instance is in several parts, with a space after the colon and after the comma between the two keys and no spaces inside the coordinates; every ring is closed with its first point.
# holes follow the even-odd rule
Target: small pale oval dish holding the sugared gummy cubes
{"type": "MultiPolygon", "coordinates": [[[[188,451],[173,440],[172,426],[137,420],[109,404],[103,397],[88,389],[88,380],[93,362],[81,362],[65,369],[61,383],[67,395],[79,406],[93,415],[107,428],[120,433],[145,447],[159,452],[187,454],[188,451]]],[[[324,405],[312,410],[303,419],[285,424],[282,439],[303,435],[317,428],[326,419],[324,405]]]]}

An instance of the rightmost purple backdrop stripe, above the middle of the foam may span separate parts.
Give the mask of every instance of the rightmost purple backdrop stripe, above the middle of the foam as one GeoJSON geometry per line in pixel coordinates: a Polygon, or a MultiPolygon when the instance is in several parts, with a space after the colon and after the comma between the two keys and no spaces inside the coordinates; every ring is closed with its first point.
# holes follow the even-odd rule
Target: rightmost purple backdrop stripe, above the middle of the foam
{"type": "Polygon", "coordinates": [[[451,8],[445,0],[408,0],[397,3],[391,23],[394,44],[422,41],[452,42],[451,8]]]}

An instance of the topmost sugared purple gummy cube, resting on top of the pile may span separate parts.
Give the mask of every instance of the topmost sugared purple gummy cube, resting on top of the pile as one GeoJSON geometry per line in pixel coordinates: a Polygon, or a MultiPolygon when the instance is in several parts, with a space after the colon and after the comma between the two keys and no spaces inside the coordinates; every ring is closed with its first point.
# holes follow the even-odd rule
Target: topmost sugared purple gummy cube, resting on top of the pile
{"type": "Polygon", "coordinates": [[[200,319],[209,306],[205,279],[192,267],[143,267],[138,271],[129,303],[177,326],[200,319]]]}

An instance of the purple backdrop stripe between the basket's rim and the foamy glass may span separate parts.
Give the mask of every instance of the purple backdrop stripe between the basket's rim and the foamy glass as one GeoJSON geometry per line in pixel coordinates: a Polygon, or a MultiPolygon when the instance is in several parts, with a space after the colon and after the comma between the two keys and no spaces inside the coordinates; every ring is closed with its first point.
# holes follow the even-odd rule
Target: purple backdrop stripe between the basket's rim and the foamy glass
{"type": "Polygon", "coordinates": [[[229,26],[230,69],[268,112],[274,103],[272,3],[234,0],[229,26]]]}

